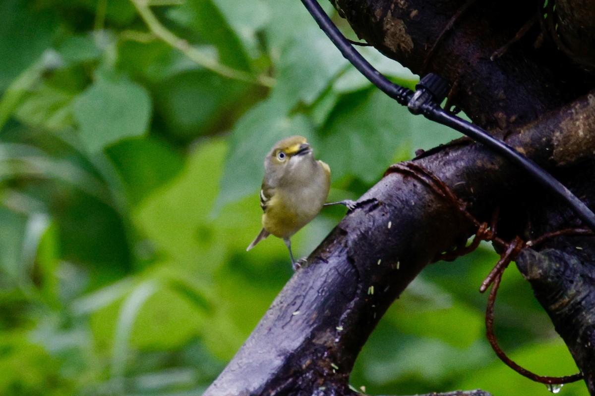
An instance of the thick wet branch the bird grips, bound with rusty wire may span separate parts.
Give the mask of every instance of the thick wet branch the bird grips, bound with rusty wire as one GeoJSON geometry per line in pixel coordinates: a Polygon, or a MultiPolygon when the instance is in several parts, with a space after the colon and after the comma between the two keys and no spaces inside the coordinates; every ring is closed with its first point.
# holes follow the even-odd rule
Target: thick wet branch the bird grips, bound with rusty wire
{"type": "MultiPolygon", "coordinates": [[[[552,112],[543,124],[527,126],[509,143],[550,166],[559,160],[544,153],[557,150],[569,150],[574,161],[584,160],[595,144],[563,148],[560,142],[572,139],[552,127],[556,119],[559,125],[582,119],[583,113],[571,111],[577,106],[595,103],[585,97],[552,112]],[[558,146],[552,150],[555,140],[558,146]]],[[[479,217],[518,192],[523,180],[513,166],[478,144],[448,147],[415,162],[443,180],[479,217]]],[[[349,393],[355,358],[386,309],[434,256],[472,233],[450,202],[399,173],[386,176],[359,202],[312,253],[309,265],[287,283],[205,396],[320,388],[324,394],[349,393]]]]}

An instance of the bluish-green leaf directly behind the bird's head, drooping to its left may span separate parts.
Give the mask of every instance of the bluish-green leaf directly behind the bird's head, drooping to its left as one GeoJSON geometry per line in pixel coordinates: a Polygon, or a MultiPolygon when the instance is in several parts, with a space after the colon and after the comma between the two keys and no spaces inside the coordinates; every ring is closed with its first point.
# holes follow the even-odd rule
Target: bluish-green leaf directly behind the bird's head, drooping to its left
{"type": "Polygon", "coordinates": [[[312,141],[312,126],[305,116],[286,115],[283,106],[272,99],[252,107],[231,134],[216,210],[258,191],[265,155],[275,142],[291,135],[312,141]]]}

